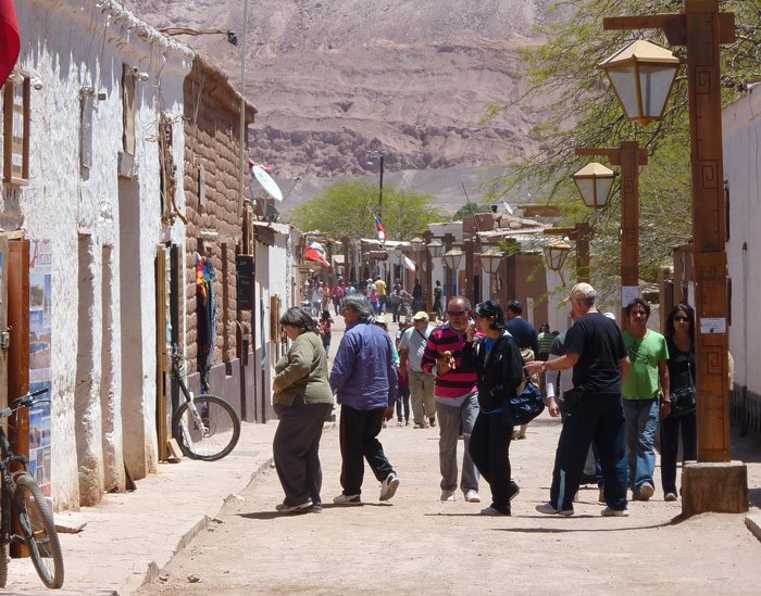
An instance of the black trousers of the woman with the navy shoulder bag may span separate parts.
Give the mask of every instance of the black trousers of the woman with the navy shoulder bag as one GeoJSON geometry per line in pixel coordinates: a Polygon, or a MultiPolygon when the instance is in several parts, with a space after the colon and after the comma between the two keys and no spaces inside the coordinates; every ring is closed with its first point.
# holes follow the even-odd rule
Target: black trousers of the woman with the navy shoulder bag
{"type": "Polygon", "coordinates": [[[491,507],[510,511],[510,441],[513,427],[502,422],[502,414],[478,413],[471,432],[471,458],[491,489],[491,507]]]}

